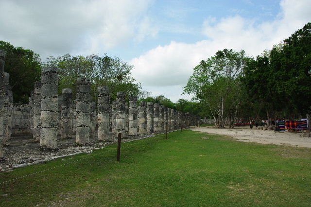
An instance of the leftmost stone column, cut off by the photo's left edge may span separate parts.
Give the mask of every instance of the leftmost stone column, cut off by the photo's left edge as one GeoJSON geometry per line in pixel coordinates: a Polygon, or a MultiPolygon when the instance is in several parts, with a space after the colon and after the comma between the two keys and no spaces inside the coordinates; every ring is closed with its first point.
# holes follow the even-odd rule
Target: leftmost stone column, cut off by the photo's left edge
{"type": "Polygon", "coordinates": [[[3,137],[3,96],[4,96],[4,58],[5,53],[3,50],[0,50],[0,158],[4,156],[4,137],[3,137]]]}

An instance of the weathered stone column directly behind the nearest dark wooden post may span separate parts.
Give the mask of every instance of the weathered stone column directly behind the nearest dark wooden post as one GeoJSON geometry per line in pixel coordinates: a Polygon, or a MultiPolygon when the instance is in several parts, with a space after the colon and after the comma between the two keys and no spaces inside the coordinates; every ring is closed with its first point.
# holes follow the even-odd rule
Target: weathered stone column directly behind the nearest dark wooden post
{"type": "Polygon", "coordinates": [[[116,105],[116,137],[121,133],[121,137],[125,136],[125,93],[117,92],[116,105]]]}

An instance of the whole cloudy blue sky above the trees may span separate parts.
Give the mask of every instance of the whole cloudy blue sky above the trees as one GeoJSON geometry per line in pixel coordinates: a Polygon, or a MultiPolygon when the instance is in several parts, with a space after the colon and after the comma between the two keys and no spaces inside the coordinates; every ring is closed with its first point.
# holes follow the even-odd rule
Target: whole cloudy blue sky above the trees
{"type": "Polygon", "coordinates": [[[0,40],[46,57],[104,53],[134,66],[142,90],[182,95],[223,49],[256,57],[311,22],[311,0],[0,0],[0,40]]]}

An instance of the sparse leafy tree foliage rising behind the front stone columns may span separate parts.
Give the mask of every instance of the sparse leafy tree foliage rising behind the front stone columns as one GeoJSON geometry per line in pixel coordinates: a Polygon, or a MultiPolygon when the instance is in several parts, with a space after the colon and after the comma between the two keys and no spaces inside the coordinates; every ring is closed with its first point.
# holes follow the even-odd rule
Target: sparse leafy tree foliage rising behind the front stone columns
{"type": "Polygon", "coordinates": [[[50,56],[45,66],[59,68],[59,92],[63,88],[76,91],[78,77],[87,77],[91,81],[91,92],[97,97],[98,86],[109,86],[110,97],[116,99],[117,91],[124,91],[128,95],[138,95],[140,84],[132,77],[133,66],[118,57],[97,54],[73,56],[66,54],[60,57],[50,56]]]}

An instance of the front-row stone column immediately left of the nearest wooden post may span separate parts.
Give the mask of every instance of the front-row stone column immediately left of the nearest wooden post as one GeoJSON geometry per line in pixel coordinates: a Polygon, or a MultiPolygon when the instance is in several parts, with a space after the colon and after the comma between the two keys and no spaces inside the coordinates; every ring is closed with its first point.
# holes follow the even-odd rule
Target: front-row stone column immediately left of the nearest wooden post
{"type": "Polygon", "coordinates": [[[98,102],[97,102],[98,139],[110,140],[109,87],[99,86],[97,87],[97,91],[98,91],[98,102]]]}

